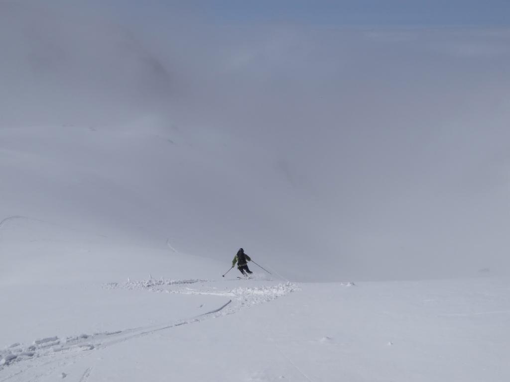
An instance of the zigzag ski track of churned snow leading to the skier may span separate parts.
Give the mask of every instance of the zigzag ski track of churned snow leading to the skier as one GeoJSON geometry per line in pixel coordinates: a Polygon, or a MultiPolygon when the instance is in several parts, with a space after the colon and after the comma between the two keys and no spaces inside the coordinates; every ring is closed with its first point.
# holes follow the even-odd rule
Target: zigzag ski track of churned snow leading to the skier
{"type": "MultiPolygon", "coordinates": [[[[90,350],[100,350],[134,338],[175,328],[176,326],[234,314],[241,309],[270,302],[275,298],[285,296],[286,294],[298,289],[295,284],[287,282],[272,286],[263,285],[260,287],[236,287],[231,290],[222,291],[215,287],[213,282],[208,280],[170,279],[149,279],[143,281],[129,280],[126,283],[108,283],[104,285],[104,287],[106,289],[120,288],[164,293],[215,295],[226,297],[228,298],[228,301],[207,313],[156,326],[142,326],[140,328],[94,334],[79,334],[66,338],[58,338],[57,336],[43,337],[34,340],[34,342],[28,346],[24,346],[21,343],[14,343],[3,350],[0,350],[0,382],[12,380],[12,378],[19,376],[20,374],[23,374],[23,380],[37,381],[41,377],[45,377],[55,371],[54,367],[42,368],[43,366],[49,366],[55,363],[59,363],[59,366],[62,366],[62,363],[65,364],[77,357],[81,358],[87,354],[91,354],[92,352],[90,350]],[[196,283],[201,283],[199,288],[188,287],[189,285],[196,283]],[[205,285],[206,283],[207,285],[205,285]],[[10,375],[4,374],[9,371],[10,366],[21,366],[25,363],[27,365],[26,367],[23,366],[23,369],[13,370],[13,373],[10,375]],[[25,373],[30,375],[25,375],[25,373]]],[[[91,367],[85,370],[79,381],[86,382],[91,370],[91,367]]]]}

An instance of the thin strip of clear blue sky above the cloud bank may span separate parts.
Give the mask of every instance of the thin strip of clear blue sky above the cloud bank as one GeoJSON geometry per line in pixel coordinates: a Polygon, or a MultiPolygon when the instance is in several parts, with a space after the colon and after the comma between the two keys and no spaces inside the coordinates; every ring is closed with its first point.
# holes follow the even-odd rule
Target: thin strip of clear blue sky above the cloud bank
{"type": "MultiPolygon", "coordinates": [[[[179,12],[212,23],[291,22],[324,26],[503,26],[510,23],[507,0],[210,0],[121,2],[139,16],[179,12]],[[129,5],[128,5],[129,4],[129,5]]],[[[120,2],[115,8],[119,10],[120,2]]]]}

